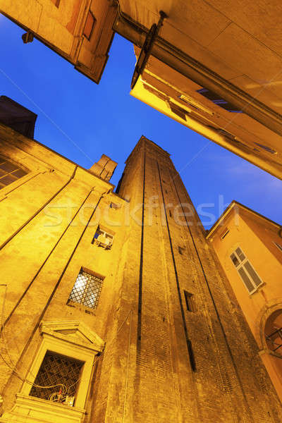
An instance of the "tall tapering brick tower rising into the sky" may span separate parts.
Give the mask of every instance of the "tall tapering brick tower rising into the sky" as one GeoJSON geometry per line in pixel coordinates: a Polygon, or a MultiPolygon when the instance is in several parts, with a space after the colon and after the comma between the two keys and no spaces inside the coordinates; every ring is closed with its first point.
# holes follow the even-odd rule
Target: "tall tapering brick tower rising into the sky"
{"type": "Polygon", "coordinates": [[[118,194],[134,219],[109,421],[278,422],[281,404],[169,154],[142,136],[118,194]]]}

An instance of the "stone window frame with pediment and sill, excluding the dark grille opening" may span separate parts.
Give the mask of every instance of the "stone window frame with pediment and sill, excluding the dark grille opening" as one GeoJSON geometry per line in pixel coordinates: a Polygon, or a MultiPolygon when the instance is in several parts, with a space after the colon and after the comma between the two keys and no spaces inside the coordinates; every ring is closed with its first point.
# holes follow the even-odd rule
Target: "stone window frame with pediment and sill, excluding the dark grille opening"
{"type": "MultiPolygon", "coordinates": [[[[85,401],[94,359],[104,349],[104,341],[82,321],[44,321],[39,330],[42,342],[30,371],[20,392],[16,394],[16,404],[11,411],[4,412],[0,422],[81,423],[85,416],[85,401]],[[83,363],[73,405],[54,403],[30,395],[44,357],[49,352],[83,363]]],[[[56,391],[59,388],[54,388],[56,391]]]]}

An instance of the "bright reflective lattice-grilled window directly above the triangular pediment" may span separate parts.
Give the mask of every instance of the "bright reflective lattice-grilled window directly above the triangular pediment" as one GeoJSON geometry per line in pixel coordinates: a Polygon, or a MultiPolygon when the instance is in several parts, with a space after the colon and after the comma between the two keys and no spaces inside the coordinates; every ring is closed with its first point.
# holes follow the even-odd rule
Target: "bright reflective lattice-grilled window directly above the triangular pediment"
{"type": "Polygon", "coordinates": [[[96,309],[103,279],[80,269],[68,301],[79,302],[85,307],[96,309]]]}

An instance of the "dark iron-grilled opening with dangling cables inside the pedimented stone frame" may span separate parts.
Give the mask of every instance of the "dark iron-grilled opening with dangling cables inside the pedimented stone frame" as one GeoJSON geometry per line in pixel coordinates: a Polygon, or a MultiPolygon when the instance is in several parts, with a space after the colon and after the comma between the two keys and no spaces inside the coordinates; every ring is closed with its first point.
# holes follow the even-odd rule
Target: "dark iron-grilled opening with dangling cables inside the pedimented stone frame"
{"type": "Polygon", "coordinates": [[[47,351],[31,388],[30,396],[66,403],[69,397],[76,395],[83,364],[71,357],[47,351]]]}

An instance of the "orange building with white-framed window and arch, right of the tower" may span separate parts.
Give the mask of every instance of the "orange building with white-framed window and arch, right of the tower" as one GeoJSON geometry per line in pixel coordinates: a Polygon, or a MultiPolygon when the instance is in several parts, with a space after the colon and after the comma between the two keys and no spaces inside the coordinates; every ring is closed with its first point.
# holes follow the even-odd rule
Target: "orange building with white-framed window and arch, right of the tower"
{"type": "Polygon", "coordinates": [[[233,201],[207,233],[282,400],[281,226],[233,201]]]}

